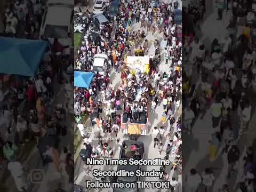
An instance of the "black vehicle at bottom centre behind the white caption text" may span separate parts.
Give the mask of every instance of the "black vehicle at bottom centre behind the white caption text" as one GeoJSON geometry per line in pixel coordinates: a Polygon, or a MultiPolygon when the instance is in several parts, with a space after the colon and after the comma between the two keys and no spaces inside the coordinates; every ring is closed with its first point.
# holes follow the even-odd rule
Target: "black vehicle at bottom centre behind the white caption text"
{"type": "MultiPolygon", "coordinates": [[[[142,159],[144,155],[144,144],[140,141],[131,141],[131,140],[125,140],[122,144],[119,159],[129,159],[129,158],[136,158],[136,159],[142,159]],[[135,148],[135,150],[131,150],[130,147],[135,148]],[[139,155],[135,155],[134,151],[137,151],[139,155]]],[[[125,171],[135,171],[141,170],[140,165],[119,165],[117,167],[117,171],[119,170],[125,170],[125,171]]],[[[115,178],[114,182],[119,183],[127,183],[127,182],[136,182],[140,181],[139,177],[117,177],[115,178]]],[[[134,189],[127,189],[127,188],[119,188],[119,189],[113,189],[113,192],[138,192],[138,188],[134,189]]]]}

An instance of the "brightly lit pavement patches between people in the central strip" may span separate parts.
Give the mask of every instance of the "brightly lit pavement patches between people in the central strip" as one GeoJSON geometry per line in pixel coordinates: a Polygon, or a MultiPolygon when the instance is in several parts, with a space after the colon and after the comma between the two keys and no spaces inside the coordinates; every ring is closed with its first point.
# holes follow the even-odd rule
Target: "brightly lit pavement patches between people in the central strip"
{"type": "MultiPolygon", "coordinates": [[[[180,3],[180,9],[181,9],[181,1],[179,1],[180,3]]],[[[141,30],[139,23],[134,23],[132,25],[132,30],[133,31],[137,31],[137,30],[141,30]]],[[[114,35],[114,34],[113,34],[114,35]]],[[[145,37],[145,39],[148,39],[149,41],[149,53],[148,55],[150,55],[151,53],[154,53],[154,39],[158,39],[159,43],[161,43],[162,41],[162,34],[158,34],[157,36],[152,36],[151,33],[150,34],[146,34],[147,36],[145,37]]],[[[163,53],[163,51],[162,51],[163,53]]],[[[163,58],[163,54],[162,57],[163,58]]],[[[169,71],[170,65],[166,65],[165,61],[161,61],[161,64],[159,65],[159,71],[161,71],[161,74],[164,73],[164,71],[169,71]]],[[[115,73],[114,70],[111,71],[111,75],[110,75],[110,82],[113,82],[113,85],[115,86],[115,89],[117,88],[117,86],[119,86],[119,84],[121,83],[121,78],[120,78],[120,74],[115,73]]],[[[114,90],[115,90],[114,89],[114,90]]],[[[166,126],[166,132],[165,135],[169,132],[170,127],[169,125],[167,125],[167,123],[165,125],[162,124],[162,114],[163,114],[164,110],[163,110],[163,104],[161,103],[160,106],[156,107],[156,110],[154,112],[150,112],[149,113],[149,122],[150,122],[150,130],[149,130],[149,134],[148,135],[142,135],[139,137],[138,141],[142,141],[145,145],[145,156],[144,159],[154,159],[156,157],[161,157],[163,158],[165,156],[165,149],[167,146],[167,142],[166,142],[166,138],[163,138],[163,153],[162,155],[158,154],[158,150],[157,148],[154,149],[154,141],[153,141],[153,135],[152,135],[152,131],[153,131],[153,127],[157,126],[166,126]]],[[[179,108],[179,113],[181,112],[181,106],[179,108]]],[[[121,110],[119,111],[119,113],[121,113],[121,110]]],[[[86,126],[86,125],[85,125],[86,126]]],[[[173,131],[173,130],[172,130],[173,131]]],[[[104,135],[103,137],[106,137],[107,135],[104,135]]],[[[90,139],[93,140],[93,138],[95,137],[95,135],[92,133],[90,135],[90,139]]],[[[119,131],[117,138],[123,138],[125,139],[129,139],[127,137],[127,135],[123,135],[123,133],[121,131],[119,131]]],[[[98,141],[97,140],[93,140],[92,141],[92,145],[97,146],[98,145],[98,141]]],[[[117,143],[115,141],[112,141],[110,143],[110,147],[114,150],[114,158],[119,158],[119,145],[117,145],[117,143]]],[[[172,160],[172,159],[171,159],[172,160]]],[[[147,171],[151,171],[151,170],[159,170],[160,166],[143,166],[142,170],[147,170],[147,171]]],[[[75,183],[77,185],[81,185],[84,186],[85,185],[85,181],[86,180],[94,180],[94,177],[92,175],[92,173],[89,173],[89,170],[93,170],[93,169],[100,169],[100,170],[116,170],[117,167],[110,167],[110,166],[90,166],[88,167],[87,165],[85,165],[82,161],[81,158],[79,157],[77,164],[76,164],[76,169],[75,169],[75,183]]],[[[173,171],[171,170],[171,166],[166,166],[166,171],[169,174],[169,178],[171,179],[172,177],[176,178],[176,180],[178,180],[179,182],[181,182],[181,175],[179,175],[178,171],[173,171]],[[179,177],[180,176],[180,177],[179,177]]],[[[147,180],[147,181],[155,181],[157,180],[157,178],[141,178],[142,180],[147,180]]],[[[91,189],[90,191],[98,191],[98,189],[91,189]]],[[[99,191],[112,191],[111,189],[99,189],[99,191]]],[[[144,191],[159,191],[156,189],[141,189],[141,192],[144,191]]],[[[166,191],[166,189],[162,189],[162,192],[166,191]]],[[[177,191],[181,191],[181,188],[177,188],[177,191]]]]}

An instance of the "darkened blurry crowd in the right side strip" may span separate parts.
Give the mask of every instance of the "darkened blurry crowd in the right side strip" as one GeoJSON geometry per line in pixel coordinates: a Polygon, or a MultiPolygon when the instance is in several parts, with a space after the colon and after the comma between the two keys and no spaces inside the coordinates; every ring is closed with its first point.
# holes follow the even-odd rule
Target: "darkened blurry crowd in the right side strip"
{"type": "MultiPolygon", "coordinates": [[[[186,71],[182,74],[184,130],[188,134],[193,133],[197,119],[203,121],[206,114],[210,113],[212,123],[205,127],[212,133],[209,161],[214,162],[222,156],[225,159],[223,166],[228,166],[227,175],[224,175],[227,183],[222,187],[215,186],[217,188],[213,187],[217,180],[216,172],[210,167],[205,167],[202,173],[191,169],[187,176],[190,191],[199,190],[202,186],[205,191],[255,191],[255,142],[252,146],[243,143],[246,152],[244,146],[238,146],[242,138],[251,134],[247,131],[255,107],[255,27],[250,17],[242,21],[252,11],[250,2],[215,2],[218,20],[214,22],[222,21],[224,11],[231,14],[228,26],[223,26],[227,28],[227,35],[223,39],[215,38],[210,45],[206,45],[198,38],[196,31],[200,31],[200,27],[195,30],[187,28],[183,33],[183,54],[186,58],[183,60],[186,71]],[[193,79],[195,75],[196,81],[193,79]],[[233,176],[238,178],[235,187],[230,185],[233,176]]],[[[191,7],[204,7],[205,10],[203,1],[191,7]]],[[[187,17],[195,14],[189,9],[184,9],[184,13],[187,17]]]]}

